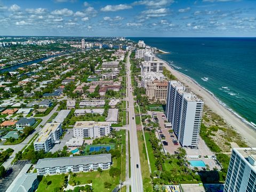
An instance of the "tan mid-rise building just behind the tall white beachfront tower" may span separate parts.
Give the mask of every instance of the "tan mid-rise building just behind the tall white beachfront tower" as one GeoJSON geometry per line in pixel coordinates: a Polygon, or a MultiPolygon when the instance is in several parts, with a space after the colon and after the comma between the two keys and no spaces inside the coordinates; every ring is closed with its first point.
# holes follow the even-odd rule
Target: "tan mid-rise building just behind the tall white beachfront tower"
{"type": "Polygon", "coordinates": [[[167,98],[167,81],[147,82],[146,95],[151,102],[165,103],[167,98]]]}

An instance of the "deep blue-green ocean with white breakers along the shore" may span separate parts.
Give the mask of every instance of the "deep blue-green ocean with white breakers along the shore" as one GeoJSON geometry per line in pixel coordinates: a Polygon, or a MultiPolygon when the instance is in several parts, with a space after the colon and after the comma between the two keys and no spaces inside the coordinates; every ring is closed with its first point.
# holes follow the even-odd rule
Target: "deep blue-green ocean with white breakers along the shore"
{"type": "Polygon", "coordinates": [[[129,38],[169,52],[157,56],[256,129],[256,38],[129,38]]]}

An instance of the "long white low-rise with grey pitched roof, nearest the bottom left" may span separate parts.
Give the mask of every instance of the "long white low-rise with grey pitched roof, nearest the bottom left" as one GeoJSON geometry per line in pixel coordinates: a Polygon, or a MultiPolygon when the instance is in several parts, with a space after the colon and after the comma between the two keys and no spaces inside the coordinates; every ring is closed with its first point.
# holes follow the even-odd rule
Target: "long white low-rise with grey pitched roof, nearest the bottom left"
{"type": "Polygon", "coordinates": [[[39,159],[35,168],[39,175],[68,172],[108,170],[112,164],[111,154],[86,155],[39,159]]]}

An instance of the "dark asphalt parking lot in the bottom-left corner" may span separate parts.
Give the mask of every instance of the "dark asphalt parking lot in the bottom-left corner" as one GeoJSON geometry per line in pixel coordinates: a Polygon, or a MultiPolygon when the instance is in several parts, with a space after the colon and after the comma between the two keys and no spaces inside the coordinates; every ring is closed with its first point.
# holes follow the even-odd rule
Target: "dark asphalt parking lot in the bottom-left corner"
{"type": "Polygon", "coordinates": [[[0,192],[7,190],[22,168],[28,163],[30,163],[30,161],[18,161],[9,170],[7,170],[7,176],[0,181],[0,192]]]}

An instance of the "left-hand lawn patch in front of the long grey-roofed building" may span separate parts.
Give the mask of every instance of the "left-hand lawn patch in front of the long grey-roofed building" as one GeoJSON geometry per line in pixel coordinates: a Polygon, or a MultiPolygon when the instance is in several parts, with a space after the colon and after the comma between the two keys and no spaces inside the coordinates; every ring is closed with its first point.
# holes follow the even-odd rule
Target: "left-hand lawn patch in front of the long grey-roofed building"
{"type": "Polygon", "coordinates": [[[37,188],[37,192],[52,192],[55,188],[60,188],[64,185],[64,178],[60,174],[47,177],[47,181],[51,184],[46,185],[43,182],[40,182],[37,188]]]}

